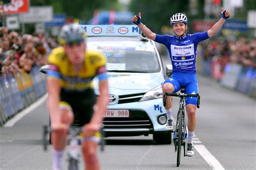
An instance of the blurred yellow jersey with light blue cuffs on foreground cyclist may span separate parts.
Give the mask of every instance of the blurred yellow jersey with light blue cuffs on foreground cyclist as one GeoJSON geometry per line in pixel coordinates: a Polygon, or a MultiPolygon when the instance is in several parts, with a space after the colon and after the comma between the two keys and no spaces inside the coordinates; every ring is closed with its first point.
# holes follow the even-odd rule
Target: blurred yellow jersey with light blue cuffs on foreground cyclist
{"type": "Polygon", "coordinates": [[[65,55],[64,47],[57,47],[52,50],[48,57],[48,63],[50,65],[47,72],[48,78],[59,79],[62,89],[72,91],[93,89],[93,78],[98,76],[99,81],[107,79],[106,58],[103,53],[97,51],[85,51],[84,64],[78,75],[65,55]]]}

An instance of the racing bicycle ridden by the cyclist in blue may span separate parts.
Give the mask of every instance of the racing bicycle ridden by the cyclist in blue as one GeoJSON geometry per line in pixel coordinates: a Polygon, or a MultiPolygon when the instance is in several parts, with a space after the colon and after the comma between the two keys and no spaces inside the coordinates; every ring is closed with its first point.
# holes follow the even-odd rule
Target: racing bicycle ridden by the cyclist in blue
{"type": "Polygon", "coordinates": [[[199,94],[185,94],[185,88],[180,89],[180,93],[165,93],[163,98],[163,104],[166,105],[166,97],[167,96],[174,96],[179,97],[179,111],[177,113],[177,122],[176,122],[176,130],[173,133],[173,144],[175,152],[177,152],[177,167],[180,165],[180,154],[181,154],[181,147],[183,146],[184,150],[184,157],[185,154],[185,140],[187,139],[187,128],[185,123],[185,98],[186,97],[196,97],[197,98],[197,108],[200,107],[200,96],[199,94]]]}

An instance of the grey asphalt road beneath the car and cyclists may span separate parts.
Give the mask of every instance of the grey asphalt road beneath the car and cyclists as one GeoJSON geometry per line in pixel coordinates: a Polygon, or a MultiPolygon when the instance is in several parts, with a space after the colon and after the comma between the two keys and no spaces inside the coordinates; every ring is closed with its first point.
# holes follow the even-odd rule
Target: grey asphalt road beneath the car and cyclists
{"type": "MultiPolygon", "coordinates": [[[[111,137],[105,151],[98,152],[101,169],[256,169],[255,99],[200,75],[198,81],[201,106],[193,157],[181,157],[177,168],[173,144],[156,145],[152,135],[111,137]]],[[[178,98],[173,101],[176,115],[178,98]]],[[[13,126],[0,127],[0,169],[51,169],[51,145],[48,152],[41,145],[48,120],[44,101],[13,126]]]]}

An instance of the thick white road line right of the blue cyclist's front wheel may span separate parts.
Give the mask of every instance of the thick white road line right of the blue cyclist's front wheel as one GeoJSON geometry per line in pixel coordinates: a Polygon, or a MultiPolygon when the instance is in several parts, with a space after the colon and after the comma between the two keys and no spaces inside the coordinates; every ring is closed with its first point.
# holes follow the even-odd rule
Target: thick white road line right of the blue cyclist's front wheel
{"type": "Polygon", "coordinates": [[[224,169],[220,162],[213,157],[204,145],[194,145],[194,148],[197,149],[197,152],[205,159],[212,169],[224,169]]]}

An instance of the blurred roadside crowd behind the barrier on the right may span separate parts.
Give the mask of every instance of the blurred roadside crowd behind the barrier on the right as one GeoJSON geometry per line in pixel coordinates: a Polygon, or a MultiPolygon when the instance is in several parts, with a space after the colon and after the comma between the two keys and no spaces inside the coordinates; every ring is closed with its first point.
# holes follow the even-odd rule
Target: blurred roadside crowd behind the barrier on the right
{"type": "Polygon", "coordinates": [[[200,45],[201,59],[211,62],[211,76],[217,80],[222,78],[227,64],[239,64],[256,69],[256,39],[213,39],[200,45]]]}

